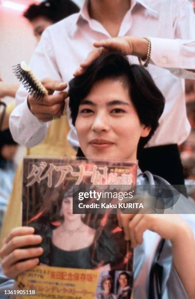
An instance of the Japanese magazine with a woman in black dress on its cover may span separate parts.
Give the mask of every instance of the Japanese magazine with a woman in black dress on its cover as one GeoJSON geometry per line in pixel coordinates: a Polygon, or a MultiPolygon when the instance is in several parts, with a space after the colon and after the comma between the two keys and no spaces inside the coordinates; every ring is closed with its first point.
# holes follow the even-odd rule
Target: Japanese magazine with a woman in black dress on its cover
{"type": "Polygon", "coordinates": [[[18,277],[20,293],[34,290],[34,298],[53,299],[130,298],[133,250],[117,214],[104,205],[104,213],[94,206],[89,214],[83,206],[97,204],[100,186],[104,193],[106,186],[120,192],[122,185],[131,189],[136,181],[136,163],[25,158],[22,225],[42,236],[44,252],[39,266],[18,277]],[[78,214],[74,204],[82,206],[78,214]]]}

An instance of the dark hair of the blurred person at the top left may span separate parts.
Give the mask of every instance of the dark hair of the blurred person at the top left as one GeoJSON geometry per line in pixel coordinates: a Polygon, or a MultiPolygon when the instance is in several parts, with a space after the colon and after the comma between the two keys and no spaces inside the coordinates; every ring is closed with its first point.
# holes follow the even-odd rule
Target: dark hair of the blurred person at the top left
{"type": "Polygon", "coordinates": [[[78,13],[79,7],[71,0],[45,0],[39,4],[31,4],[23,13],[29,21],[44,17],[56,23],[72,14],[78,13]]]}

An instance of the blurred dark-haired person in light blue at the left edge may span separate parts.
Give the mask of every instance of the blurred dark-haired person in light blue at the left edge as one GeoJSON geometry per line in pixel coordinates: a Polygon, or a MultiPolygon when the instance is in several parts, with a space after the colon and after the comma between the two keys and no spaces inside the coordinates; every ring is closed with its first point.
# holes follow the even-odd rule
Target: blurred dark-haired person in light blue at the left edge
{"type": "Polygon", "coordinates": [[[0,132],[0,227],[12,191],[16,172],[14,156],[17,147],[9,129],[0,132]]]}

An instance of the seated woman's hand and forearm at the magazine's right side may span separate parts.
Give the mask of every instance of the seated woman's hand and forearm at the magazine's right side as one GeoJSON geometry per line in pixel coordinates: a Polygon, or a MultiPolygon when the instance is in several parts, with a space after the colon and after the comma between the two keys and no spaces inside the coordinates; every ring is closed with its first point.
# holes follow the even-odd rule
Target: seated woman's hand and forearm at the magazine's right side
{"type": "Polygon", "coordinates": [[[176,214],[118,214],[117,216],[119,226],[124,229],[125,239],[131,241],[132,247],[143,242],[143,233],[146,230],[155,232],[172,243],[183,242],[184,235],[191,232],[187,222],[176,214]]]}

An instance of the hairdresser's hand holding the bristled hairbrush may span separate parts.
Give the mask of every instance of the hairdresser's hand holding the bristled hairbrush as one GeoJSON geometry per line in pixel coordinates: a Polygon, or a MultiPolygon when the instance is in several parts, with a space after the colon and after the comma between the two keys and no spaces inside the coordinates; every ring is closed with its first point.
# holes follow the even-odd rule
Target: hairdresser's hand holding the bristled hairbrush
{"type": "Polygon", "coordinates": [[[68,92],[64,91],[67,84],[49,78],[42,80],[41,83],[48,90],[49,94],[44,96],[42,101],[29,95],[28,107],[39,120],[48,122],[54,117],[59,117],[63,114],[65,99],[68,97],[68,92]],[[53,95],[56,90],[59,93],[53,95]]]}

